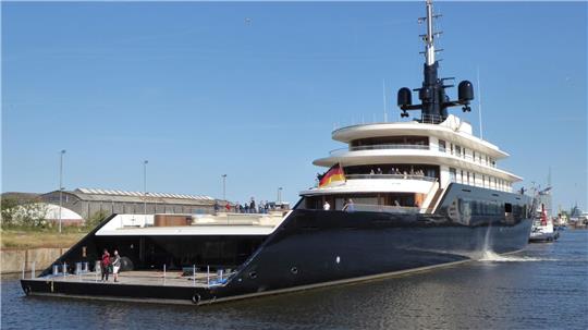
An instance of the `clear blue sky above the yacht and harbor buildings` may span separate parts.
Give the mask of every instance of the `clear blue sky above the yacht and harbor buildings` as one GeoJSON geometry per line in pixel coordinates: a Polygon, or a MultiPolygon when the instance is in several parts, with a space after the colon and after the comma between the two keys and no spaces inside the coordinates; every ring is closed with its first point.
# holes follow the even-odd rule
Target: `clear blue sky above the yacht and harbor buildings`
{"type": "MultiPolygon", "coordinates": [[[[2,2],[2,191],[284,199],[334,124],[389,118],[421,82],[422,2],[2,2]]],[[[499,163],[587,208],[587,3],[439,2],[441,75],[482,88],[499,163]]],[[[450,90],[455,95],[455,90],[450,90]]],[[[477,102],[470,121],[478,134],[477,102]]]]}

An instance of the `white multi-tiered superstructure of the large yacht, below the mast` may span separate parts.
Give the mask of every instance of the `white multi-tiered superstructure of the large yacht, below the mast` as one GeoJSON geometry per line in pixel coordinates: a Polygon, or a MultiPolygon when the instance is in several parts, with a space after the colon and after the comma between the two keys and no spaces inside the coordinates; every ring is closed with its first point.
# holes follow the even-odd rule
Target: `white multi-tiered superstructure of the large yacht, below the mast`
{"type": "MultiPolygon", "coordinates": [[[[522,180],[498,168],[509,154],[474,136],[471,125],[452,114],[440,124],[352,125],[333,131],[332,138],[347,146],[314,164],[339,163],[345,182],[317,185],[301,195],[353,195],[358,204],[432,208],[434,194],[452,182],[510,193],[512,184],[522,180]]],[[[336,207],[343,203],[335,200],[336,207]]]]}

